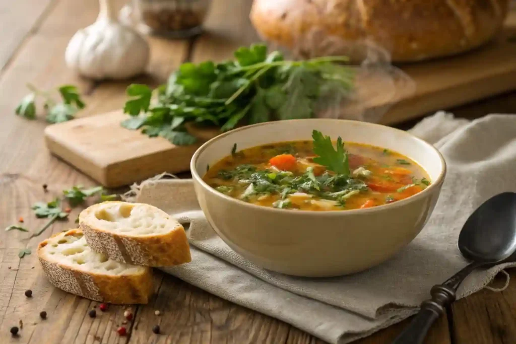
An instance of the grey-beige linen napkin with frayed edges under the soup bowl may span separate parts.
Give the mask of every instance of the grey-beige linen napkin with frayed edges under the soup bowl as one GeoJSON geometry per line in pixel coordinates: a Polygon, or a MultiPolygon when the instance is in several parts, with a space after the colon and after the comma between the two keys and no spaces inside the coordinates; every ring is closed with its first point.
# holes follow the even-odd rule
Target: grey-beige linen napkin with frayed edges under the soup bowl
{"type": "MultiPolygon", "coordinates": [[[[438,112],[412,133],[434,143],[446,159],[448,173],[438,204],[407,248],[384,264],[353,275],[305,279],[255,266],[209,226],[191,180],[143,182],[136,201],[190,224],[192,262],[165,272],[328,342],[347,343],[416,313],[434,284],[467,264],[457,249],[466,218],[490,196],[516,191],[516,116],[490,115],[469,122],[438,112]]],[[[458,297],[485,287],[507,266],[471,274],[458,297]]]]}

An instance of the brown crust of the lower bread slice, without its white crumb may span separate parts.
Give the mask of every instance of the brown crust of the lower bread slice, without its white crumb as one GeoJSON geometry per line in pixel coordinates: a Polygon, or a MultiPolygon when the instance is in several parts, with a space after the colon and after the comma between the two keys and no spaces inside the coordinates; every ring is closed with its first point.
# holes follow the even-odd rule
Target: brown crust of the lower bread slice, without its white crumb
{"type": "MultiPolygon", "coordinates": [[[[81,231],[70,230],[64,235],[76,234],[81,234],[81,231]]],[[[61,233],[52,237],[57,235],[61,233]]],[[[45,275],[55,287],[93,301],[114,304],[148,303],[152,293],[151,268],[142,268],[141,273],[131,275],[108,275],[77,270],[68,264],[45,258],[42,249],[49,243],[49,239],[38,245],[37,255],[45,275]]]]}

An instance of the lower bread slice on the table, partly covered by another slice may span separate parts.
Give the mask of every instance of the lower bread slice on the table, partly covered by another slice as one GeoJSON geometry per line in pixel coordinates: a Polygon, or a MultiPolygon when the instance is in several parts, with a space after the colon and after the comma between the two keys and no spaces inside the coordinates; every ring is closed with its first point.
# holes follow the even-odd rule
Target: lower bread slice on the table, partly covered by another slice
{"type": "Polygon", "coordinates": [[[152,292],[151,268],[119,263],[92,251],[80,230],[43,240],[37,254],[50,282],[78,296],[135,304],[147,303],[152,292]]]}

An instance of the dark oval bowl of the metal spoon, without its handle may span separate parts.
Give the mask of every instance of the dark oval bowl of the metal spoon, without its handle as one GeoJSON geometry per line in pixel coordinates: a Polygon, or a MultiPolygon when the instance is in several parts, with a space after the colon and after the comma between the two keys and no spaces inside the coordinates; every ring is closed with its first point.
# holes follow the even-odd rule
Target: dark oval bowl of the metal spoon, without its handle
{"type": "Polygon", "coordinates": [[[516,251],[516,193],[499,193],[478,207],[464,223],[458,245],[464,258],[485,263],[516,251]]]}

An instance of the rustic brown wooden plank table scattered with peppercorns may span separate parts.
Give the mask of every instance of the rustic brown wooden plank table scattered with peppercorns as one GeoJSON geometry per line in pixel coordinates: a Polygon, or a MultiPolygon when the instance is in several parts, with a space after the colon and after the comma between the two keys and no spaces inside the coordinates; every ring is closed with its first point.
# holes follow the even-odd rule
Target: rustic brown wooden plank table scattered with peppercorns
{"type": "MultiPolygon", "coordinates": [[[[119,5],[122,2],[119,1],[119,5]]],[[[149,76],[138,81],[157,85],[183,61],[227,58],[235,47],[256,40],[247,14],[250,1],[216,0],[207,27],[209,34],[189,41],[151,38],[149,76]],[[231,8],[231,14],[227,9],[231,8]]],[[[127,83],[93,83],[64,68],[68,40],[80,27],[92,23],[96,1],[17,0],[0,3],[0,227],[24,217],[29,228],[35,219],[30,206],[51,200],[62,189],[94,183],[62,161],[50,156],[43,145],[43,121],[26,121],[13,109],[27,92],[30,81],[41,88],[69,83],[78,85],[88,104],[83,115],[121,108],[127,83]],[[44,193],[42,184],[49,185],[44,193]]],[[[492,112],[516,112],[516,92],[476,104],[448,109],[461,117],[476,118],[492,112]]],[[[410,124],[402,124],[409,127],[410,124]]],[[[74,209],[74,219],[78,209],[74,209]]],[[[55,224],[44,236],[73,227],[73,220],[55,224]]],[[[26,233],[0,231],[0,341],[2,343],[321,343],[295,327],[232,304],[174,277],[156,273],[156,296],[148,305],[133,307],[134,319],[126,324],[127,337],[117,326],[124,307],[112,306],[91,319],[95,302],[55,289],[42,274],[35,254],[18,257],[21,248],[34,249],[42,239],[26,233]],[[33,290],[33,297],[24,295],[33,290]],[[154,315],[160,310],[161,316],[154,315]],[[41,310],[48,314],[39,318],[41,310]],[[9,329],[23,321],[18,338],[9,329]],[[163,335],[151,333],[160,324],[163,335]]],[[[514,272],[511,272],[514,276],[514,272]]],[[[516,342],[516,286],[503,292],[481,291],[456,302],[447,317],[431,330],[427,343],[487,344],[516,342]]],[[[357,343],[389,342],[406,321],[357,343]]]]}

